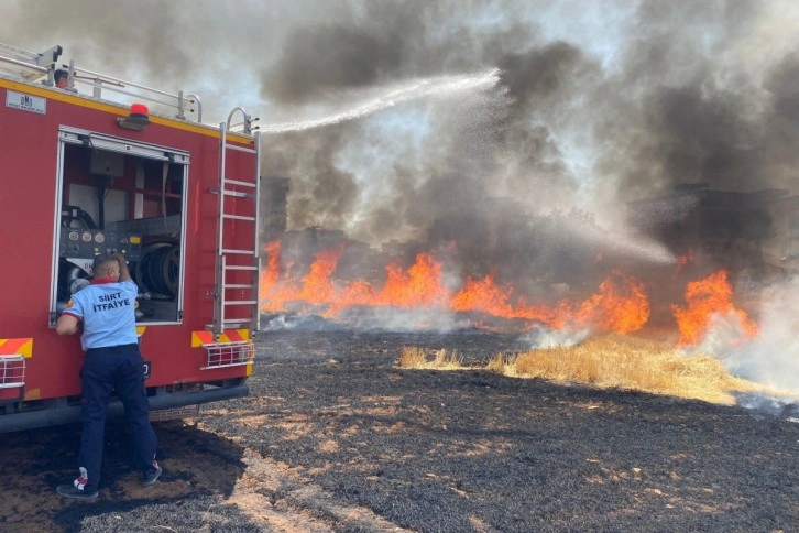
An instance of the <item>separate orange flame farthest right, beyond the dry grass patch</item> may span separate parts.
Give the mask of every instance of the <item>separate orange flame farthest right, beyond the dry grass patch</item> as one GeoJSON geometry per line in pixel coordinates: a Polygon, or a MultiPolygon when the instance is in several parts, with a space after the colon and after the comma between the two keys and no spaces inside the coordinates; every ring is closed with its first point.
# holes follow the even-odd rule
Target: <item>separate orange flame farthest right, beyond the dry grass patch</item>
{"type": "Polygon", "coordinates": [[[677,328],[680,331],[680,346],[696,345],[701,341],[710,328],[714,314],[733,313],[747,337],[757,335],[757,324],[744,311],[733,305],[732,286],[724,270],[689,283],[686,287],[686,302],[688,303],[686,307],[671,306],[677,319],[677,328]]]}

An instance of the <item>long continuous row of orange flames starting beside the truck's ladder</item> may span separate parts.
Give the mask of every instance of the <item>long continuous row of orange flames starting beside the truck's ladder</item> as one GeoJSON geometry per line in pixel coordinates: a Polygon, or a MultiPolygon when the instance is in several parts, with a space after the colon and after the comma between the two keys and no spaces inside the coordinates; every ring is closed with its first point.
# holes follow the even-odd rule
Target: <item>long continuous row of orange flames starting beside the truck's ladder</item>
{"type": "Polygon", "coordinates": [[[631,333],[641,329],[649,318],[649,301],[637,280],[614,272],[599,292],[582,302],[561,301],[555,306],[530,305],[524,297],[513,301],[514,289],[497,285],[494,274],[482,280],[468,278],[452,294],[442,283],[441,263],[431,252],[419,253],[414,264],[404,270],[386,266],[386,281],[377,290],[365,280],[335,284],[341,250],[317,253],[308,273],[299,284],[286,273],[280,275],[280,244],[266,247],[270,255],[262,275],[262,311],[285,311],[288,302],[300,301],[316,306],[327,317],[335,317],[351,306],[393,306],[402,308],[442,308],[453,312],[479,312],[501,318],[535,320],[550,328],[573,326],[596,331],[631,333]]]}

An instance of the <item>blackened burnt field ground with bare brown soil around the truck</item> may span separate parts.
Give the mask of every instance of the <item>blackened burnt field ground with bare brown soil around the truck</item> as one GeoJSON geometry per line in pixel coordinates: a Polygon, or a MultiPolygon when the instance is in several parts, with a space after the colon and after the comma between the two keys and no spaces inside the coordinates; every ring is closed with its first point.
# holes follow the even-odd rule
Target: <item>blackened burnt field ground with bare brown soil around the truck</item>
{"type": "Polygon", "coordinates": [[[248,398],[158,423],[144,489],[110,425],[100,498],[61,499],[78,426],[0,435],[0,531],[799,531],[799,412],[396,367],[514,337],[260,334],[248,398]]]}

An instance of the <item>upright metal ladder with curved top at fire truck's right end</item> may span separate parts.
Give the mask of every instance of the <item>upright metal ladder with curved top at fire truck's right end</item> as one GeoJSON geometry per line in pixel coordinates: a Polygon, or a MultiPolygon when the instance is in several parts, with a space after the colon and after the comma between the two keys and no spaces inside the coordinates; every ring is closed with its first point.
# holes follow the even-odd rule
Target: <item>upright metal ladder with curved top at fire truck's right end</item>
{"type": "Polygon", "coordinates": [[[261,139],[260,132],[255,132],[253,135],[254,148],[228,142],[230,120],[237,110],[244,115],[244,133],[251,133],[250,117],[241,108],[233,109],[228,121],[219,124],[219,188],[216,191],[219,194],[216,298],[214,324],[210,325],[215,341],[226,329],[248,327],[250,331],[255,331],[260,325],[258,280],[261,270],[261,254],[259,253],[258,221],[260,219],[261,139]],[[250,176],[245,178],[228,176],[228,154],[231,151],[253,155],[253,168],[250,176]],[[241,239],[233,242],[238,228],[244,228],[245,232],[252,231],[252,240],[248,244],[242,246],[241,239]],[[231,315],[236,316],[231,317],[231,315]]]}

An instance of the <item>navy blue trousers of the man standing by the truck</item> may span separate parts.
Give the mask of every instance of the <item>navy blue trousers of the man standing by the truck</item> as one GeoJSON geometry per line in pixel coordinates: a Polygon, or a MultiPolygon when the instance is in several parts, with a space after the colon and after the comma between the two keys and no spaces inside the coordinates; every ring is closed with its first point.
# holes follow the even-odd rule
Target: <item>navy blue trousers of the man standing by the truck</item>
{"type": "Polygon", "coordinates": [[[124,405],[124,414],[133,433],[138,467],[152,467],[158,446],[150,425],[150,404],[144,388],[144,360],[138,345],[113,346],[86,350],[80,369],[84,432],[80,436],[79,466],[86,468],[88,482],[84,490],[94,492],[100,483],[106,415],[111,393],[124,405]]]}

